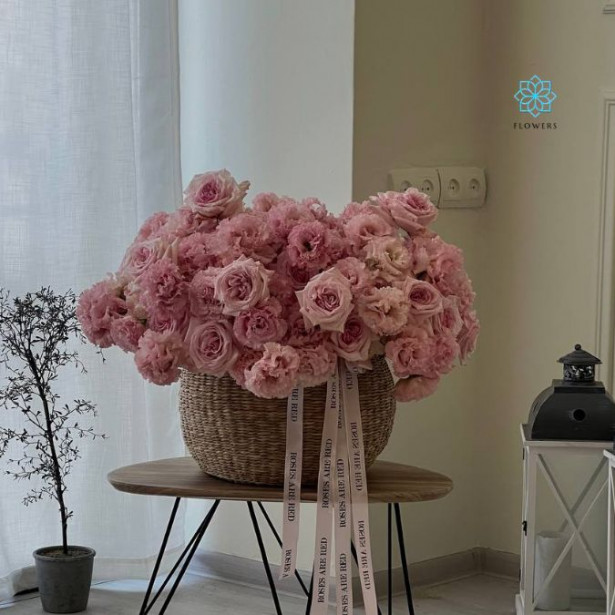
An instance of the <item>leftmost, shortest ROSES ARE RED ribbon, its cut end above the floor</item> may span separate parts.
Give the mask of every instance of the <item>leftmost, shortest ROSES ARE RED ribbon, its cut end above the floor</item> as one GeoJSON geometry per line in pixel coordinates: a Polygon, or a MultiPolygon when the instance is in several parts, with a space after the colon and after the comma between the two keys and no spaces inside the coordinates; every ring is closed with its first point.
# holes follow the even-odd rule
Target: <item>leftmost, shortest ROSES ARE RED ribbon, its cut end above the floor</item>
{"type": "Polygon", "coordinates": [[[286,408],[286,461],[280,579],[295,574],[299,540],[301,470],[303,467],[303,387],[293,389],[286,408]]]}

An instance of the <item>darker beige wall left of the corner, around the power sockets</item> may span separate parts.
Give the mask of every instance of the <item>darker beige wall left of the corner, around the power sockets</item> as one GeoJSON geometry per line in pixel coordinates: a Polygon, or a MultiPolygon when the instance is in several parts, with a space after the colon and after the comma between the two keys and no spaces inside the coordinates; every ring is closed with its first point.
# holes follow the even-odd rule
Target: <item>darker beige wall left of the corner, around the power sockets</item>
{"type": "MultiPolygon", "coordinates": [[[[387,188],[404,166],[482,166],[483,3],[479,0],[358,0],[355,27],[355,199],[387,188]]],[[[442,211],[436,229],[461,246],[482,296],[482,212],[442,211]]],[[[448,376],[418,404],[399,404],[383,458],[445,472],[455,481],[443,501],[408,505],[413,561],[476,546],[476,361],[448,376]]],[[[374,532],[382,531],[376,510],[374,532]]],[[[375,553],[384,563],[383,553],[375,553]]]]}

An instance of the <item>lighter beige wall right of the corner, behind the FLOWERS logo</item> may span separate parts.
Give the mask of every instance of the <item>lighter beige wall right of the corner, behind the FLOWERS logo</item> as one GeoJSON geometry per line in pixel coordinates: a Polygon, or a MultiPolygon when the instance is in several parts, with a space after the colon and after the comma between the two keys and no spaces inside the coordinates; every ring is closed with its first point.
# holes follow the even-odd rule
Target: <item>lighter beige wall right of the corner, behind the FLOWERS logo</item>
{"type": "Polygon", "coordinates": [[[558,377],[557,357],[595,347],[601,92],[613,86],[615,21],[600,0],[486,3],[489,198],[481,216],[477,514],[481,543],[518,550],[517,425],[558,377]],[[612,41],[609,43],[609,39],[612,41]],[[609,49],[610,45],[610,49],[609,49]],[[538,73],[559,98],[556,131],[515,131],[511,98],[538,73]]]}

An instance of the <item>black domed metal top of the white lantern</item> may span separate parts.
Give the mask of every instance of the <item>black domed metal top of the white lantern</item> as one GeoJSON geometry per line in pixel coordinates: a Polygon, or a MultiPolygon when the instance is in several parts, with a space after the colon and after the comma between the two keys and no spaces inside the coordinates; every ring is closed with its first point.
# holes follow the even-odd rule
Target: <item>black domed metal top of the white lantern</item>
{"type": "Polygon", "coordinates": [[[600,359],[581,348],[559,359],[564,379],[554,380],[532,404],[528,435],[532,440],[613,440],[615,402],[596,382],[600,359]]]}

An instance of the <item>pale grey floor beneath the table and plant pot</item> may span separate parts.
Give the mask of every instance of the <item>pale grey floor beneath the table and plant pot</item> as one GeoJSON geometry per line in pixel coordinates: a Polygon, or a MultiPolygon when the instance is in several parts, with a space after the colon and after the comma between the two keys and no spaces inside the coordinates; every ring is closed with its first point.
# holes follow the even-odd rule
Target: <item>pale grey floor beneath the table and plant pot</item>
{"type": "MultiPolygon", "coordinates": [[[[415,591],[417,615],[510,615],[514,613],[513,581],[475,576],[445,585],[415,591]]],[[[88,613],[92,615],[136,615],[145,582],[116,581],[92,589],[88,613]]],[[[284,613],[303,615],[305,602],[281,596],[284,613]]],[[[2,604],[6,615],[42,613],[38,597],[28,596],[13,604],[2,604]]],[[[271,615],[268,592],[188,575],[173,599],[169,615],[271,615]]],[[[333,609],[331,609],[333,612],[333,609]]],[[[357,615],[361,611],[355,610],[357,615]]],[[[405,598],[395,598],[394,613],[407,613],[405,598]]]]}

